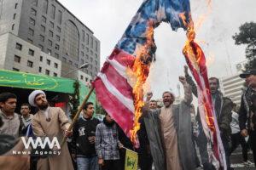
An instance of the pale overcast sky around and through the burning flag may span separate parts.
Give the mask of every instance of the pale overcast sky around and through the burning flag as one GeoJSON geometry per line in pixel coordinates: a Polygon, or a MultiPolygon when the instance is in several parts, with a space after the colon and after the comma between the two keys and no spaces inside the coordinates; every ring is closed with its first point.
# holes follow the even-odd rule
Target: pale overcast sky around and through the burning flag
{"type": "MultiPolygon", "coordinates": [[[[101,64],[111,54],[114,45],[123,35],[131,18],[143,0],[59,0],[81,20],[101,41],[101,64]]],[[[232,36],[245,22],[256,22],[255,0],[212,1],[207,13],[207,0],[190,0],[194,21],[207,14],[196,39],[206,54],[210,77],[226,77],[236,73],[236,64],[245,60],[245,47],[236,46],[232,36]]],[[[163,91],[172,88],[177,95],[177,77],[183,75],[185,59],[182,54],[185,31],[172,31],[163,23],[155,29],[156,62],[152,65],[148,83],[159,98],[163,91]]]]}

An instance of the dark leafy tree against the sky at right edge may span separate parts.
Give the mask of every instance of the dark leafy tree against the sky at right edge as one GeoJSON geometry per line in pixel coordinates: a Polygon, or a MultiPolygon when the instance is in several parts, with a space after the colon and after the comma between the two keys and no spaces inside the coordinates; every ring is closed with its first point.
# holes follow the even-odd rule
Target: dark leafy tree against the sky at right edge
{"type": "Polygon", "coordinates": [[[248,69],[256,68],[256,23],[246,22],[239,27],[239,33],[233,36],[236,45],[247,45],[246,58],[248,59],[245,65],[248,69]]]}

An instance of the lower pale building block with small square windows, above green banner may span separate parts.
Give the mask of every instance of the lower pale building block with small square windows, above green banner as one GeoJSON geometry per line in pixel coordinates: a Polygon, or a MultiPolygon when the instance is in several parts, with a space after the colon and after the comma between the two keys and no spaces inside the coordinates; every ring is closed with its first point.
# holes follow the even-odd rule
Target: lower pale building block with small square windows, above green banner
{"type": "Polygon", "coordinates": [[[12,33],[0,36],[0,69],[61,77],[61,60],[12,33]]]}

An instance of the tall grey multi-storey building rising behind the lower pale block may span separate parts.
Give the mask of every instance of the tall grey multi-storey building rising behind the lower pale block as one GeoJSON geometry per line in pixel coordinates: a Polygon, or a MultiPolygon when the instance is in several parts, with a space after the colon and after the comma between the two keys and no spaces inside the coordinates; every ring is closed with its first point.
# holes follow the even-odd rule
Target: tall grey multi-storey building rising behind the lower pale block
{"type": "MultiPolygon", "coordinates": [[[[7,33],[28,42],[24,43],[25,46],[37,49],[32,60],[32,68],[35,69],[26,68],[29,72],[39,72],[37,61],[42,56],[40,53],[61,60],[61,76],[78,69],[85,62],[90,65],[83,71],[90,77],[95,77],[100,70],[100,41],[94,37],[93,31],[57,0],[0,0],[0,35],[6,36],[7,33]]],[[[7,56],[1,55],[1,58],[14,60],[14,56],[5,59],[7,56]]],[[[2,68],[13,70],[10,66],[2,68]]],[[[66,76],[73,75],[79,73],[66,76]]]]}

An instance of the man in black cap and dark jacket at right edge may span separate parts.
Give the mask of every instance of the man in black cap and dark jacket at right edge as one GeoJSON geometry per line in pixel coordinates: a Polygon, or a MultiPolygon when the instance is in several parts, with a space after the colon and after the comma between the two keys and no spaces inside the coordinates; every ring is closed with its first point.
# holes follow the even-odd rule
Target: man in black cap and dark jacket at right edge
{"type": "Polygon", "coordinates": [[[256,70],[247,71],[241,74],[240,77],[246,79],[247,89],[241,96],[239,126],[242,136],[249,135],[256,167],[256,70]]]}

